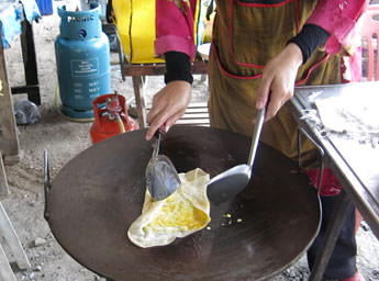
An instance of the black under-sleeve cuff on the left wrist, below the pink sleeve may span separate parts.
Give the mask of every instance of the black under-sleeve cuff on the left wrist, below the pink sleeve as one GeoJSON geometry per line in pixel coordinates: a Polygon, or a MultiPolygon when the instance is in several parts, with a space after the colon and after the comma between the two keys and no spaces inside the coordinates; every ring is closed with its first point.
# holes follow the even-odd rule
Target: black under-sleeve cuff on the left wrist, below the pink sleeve
{"type": "Polygon", "coordinates": [[[193,77],[191,74],[191,61],[187,54],[180,52],[167,52],[165,53],[165,83],[181,80],[192,85],[193,77]]]}

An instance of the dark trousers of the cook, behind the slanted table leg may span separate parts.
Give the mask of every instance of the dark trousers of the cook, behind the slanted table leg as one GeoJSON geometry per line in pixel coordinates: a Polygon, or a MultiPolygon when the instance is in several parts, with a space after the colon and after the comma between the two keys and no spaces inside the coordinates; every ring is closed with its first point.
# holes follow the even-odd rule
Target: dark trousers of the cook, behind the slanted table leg
{"type": "MultiPolygon", "coordinates": [[[[317,237],[308,251],[308,262],[312,270],[315,255],[321,246],[326,225],[331,220],[332,212],[336,205],[338,195],[321,196],[322,223],[317,237]]],[[[347,211],[345,223],[336,240],[333,254],[326,266],[325,279],[346,279],[355,274],[357,245],[355,240],[355,207],[350,206],[347,211]]]]}

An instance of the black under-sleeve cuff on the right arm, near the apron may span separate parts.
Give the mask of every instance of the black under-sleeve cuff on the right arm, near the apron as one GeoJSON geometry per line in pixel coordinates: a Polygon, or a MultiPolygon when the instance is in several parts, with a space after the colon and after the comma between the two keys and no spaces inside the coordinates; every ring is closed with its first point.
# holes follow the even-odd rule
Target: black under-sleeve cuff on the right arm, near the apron
{"type": "Polygon", "coordinates": [[[297,44],[303,55],[303,64],[312,55],[312,53],[321,45],[325,44],[331,34],[324,29],[315,24],[305,24],[301,32],[290,38],[288,43],[297,44]]]}

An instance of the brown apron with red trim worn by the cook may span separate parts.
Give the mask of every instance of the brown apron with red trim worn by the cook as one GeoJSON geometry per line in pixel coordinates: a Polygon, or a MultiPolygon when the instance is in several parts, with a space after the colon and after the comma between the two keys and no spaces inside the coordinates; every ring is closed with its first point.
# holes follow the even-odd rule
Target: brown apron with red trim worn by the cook
{"type": "MultiPolygon", "coordinates": [[[[218,1],[209,61],[211,126],[252,136],[263,68],[301,30],[315,4],[315,0],[218,1]]],[[[339,83],[339,61],[317,49],[299,69],[297,85],[339,83]]],[[[296,120],[283,106],[266,122],[261,139],[294,158],[297,132],[296,120]]],[[[304,151],[314,148],[303,139],[304,151]]]]}

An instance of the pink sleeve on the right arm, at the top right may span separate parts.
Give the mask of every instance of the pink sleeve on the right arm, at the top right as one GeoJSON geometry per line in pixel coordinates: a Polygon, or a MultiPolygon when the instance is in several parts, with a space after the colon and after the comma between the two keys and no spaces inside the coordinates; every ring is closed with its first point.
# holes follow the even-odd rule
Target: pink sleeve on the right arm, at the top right
{"type": "Polygon", "coordinates": [[[349,46],[354,27],[366,10],[369,0],[319,0],[306,23],[316,24],[331,36],[326,41],[326,52],[337,54],[342,47],[349,46]]]}

